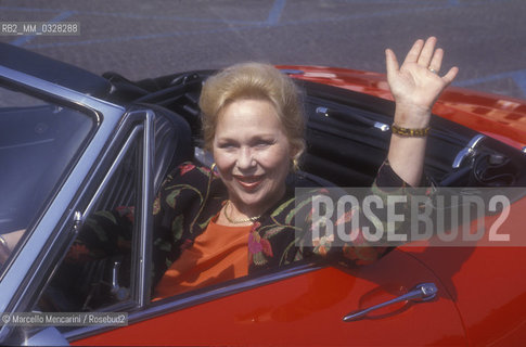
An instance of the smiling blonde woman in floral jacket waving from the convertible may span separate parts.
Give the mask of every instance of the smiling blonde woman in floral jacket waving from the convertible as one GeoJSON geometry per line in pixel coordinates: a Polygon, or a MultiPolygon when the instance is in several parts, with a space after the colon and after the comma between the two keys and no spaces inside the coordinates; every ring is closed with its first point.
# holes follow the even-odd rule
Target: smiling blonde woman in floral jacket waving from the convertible
{"type": "MultiPolygon", "coordinates": [[[[418,40],[401,67],[393,51],[386,50],[396,113],[388,163],[381,168],[376,185],[403,188],[421,181],[432,106],[458,73],[453,67],[438,76],[444,53],[435,50],[435,44],[434,37],[418,40]]],[[[234,65],[206,81],[200,105],[215,174],[185,164],[163,185],[154,214],[157,230],[164,230],[165,236],[156,242],[170,246],[157,256],[174,262],[156,287],[157,297],[288,264],[312,253],[328,256],[326,240],[322,244],[315,241],[310,249],[297,247],[290,218],[294,197],[287,193],[285,178],[305,146],[294,83],[268,65],[234,65]]],[[[370,261],[384,253],[385,247],[356,244],[334,252],[351,264],[370,261]]]]}

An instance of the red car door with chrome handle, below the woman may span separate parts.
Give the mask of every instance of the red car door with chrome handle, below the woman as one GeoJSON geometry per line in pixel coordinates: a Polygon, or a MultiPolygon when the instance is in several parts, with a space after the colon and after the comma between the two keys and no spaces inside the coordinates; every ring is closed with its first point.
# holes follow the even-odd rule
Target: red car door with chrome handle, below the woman
{"type": "Polygon", "coordinates": [[[467,344],[439,280],[405,252],[357,269],[298,264],[259,277],[151,303],[129,325],[74,345],[427,345],[467,344]],[[349,312],[433,283],[428,301],[402,300],[344,322],[349,312]]]}

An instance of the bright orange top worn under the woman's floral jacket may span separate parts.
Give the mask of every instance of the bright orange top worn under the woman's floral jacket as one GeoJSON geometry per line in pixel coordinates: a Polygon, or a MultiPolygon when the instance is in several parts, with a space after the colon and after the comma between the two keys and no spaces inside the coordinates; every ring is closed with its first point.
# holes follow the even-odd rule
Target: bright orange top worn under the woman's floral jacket
{"type": "Polygon", "coordinates": [[[226,227],[217,224],[215,219],[166,270],[155,288],[156,299],[248,273],[248,234],[252,226],[226,227]]]}

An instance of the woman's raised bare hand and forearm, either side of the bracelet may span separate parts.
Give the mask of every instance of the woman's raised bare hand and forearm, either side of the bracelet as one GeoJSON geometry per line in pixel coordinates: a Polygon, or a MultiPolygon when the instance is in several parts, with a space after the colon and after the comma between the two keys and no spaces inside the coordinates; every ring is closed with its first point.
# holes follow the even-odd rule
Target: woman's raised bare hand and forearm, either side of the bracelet
{"type": "MultiPolygon", "coordinates": [[[[444,51],[435,49],[435,37],[425,42],[416,40],[401,66],[395,53],[385,50],[387,81],[396,102],[394,124],[399,128],[426,131],[434,103],[459,72],[452,67],[446,75],[439,75],[444,51]]],[[[387,155],[390,166],[410,185],[418,185],[421,181],[425,144],[425,136],[394,133],[390,138],[387,155]]]]}

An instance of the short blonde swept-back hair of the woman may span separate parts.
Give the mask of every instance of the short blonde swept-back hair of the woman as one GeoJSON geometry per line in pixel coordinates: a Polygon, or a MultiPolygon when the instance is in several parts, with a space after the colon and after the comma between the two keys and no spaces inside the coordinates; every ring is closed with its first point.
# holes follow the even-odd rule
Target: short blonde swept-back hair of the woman
{"type": "Polygon", "coordinates": [[[262,99],[273,104],[297,159],[305,150],[299,90],[288,76],[262,63],[232,65],[205,81],[200,98],[205,147],[211,151],[220,111],[242,99],[262,99]]]}

